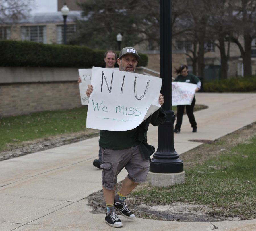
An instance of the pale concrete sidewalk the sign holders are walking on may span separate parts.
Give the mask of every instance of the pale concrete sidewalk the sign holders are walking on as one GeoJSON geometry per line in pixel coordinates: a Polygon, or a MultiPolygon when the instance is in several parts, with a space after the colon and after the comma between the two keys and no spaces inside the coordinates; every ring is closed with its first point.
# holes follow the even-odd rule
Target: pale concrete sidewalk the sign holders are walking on
{"type": "MultiPolygon", "coordinates": [[[[187,116],[174,147],[182,154],[256,121],[256,94],[197,93],[197,104],[209,108],[195,112],[198,132],[192,133],[187,116]]],[[[150,126],[149,143],[157,148],[158,129],[150,126]]],[[[105,214],[92,214],[88,195],[102,189],[97,158],[98,137],[0,162],[0,230],[116,230],[105,224],[105,214]]],[[[118,181],[126,176],[123,170],[118,181]]],[[[174,222],[120,216],[125,230],[256,230],[256,219],[225,222],[174,222]]]]}

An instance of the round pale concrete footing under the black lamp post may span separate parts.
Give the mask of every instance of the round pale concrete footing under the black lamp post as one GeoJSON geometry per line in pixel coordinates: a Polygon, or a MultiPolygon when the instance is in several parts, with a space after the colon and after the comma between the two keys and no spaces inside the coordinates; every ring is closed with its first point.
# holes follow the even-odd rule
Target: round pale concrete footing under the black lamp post
{"type": "Polygon", "coordinates": [[[185,183],[185,172],[179,173],[155,173],[148,172],[147,181],[157,187],[168,187],[175,184],[185,183]]]}

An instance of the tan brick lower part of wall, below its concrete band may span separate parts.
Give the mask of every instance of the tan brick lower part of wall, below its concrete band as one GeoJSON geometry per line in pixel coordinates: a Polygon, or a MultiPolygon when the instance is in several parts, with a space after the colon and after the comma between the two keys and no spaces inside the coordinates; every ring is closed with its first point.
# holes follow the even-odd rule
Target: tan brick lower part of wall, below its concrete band
{"type": "Polygon", "coordinates": [[[0,85],[0,117],[81,107],[77,82],[0,85]]]}

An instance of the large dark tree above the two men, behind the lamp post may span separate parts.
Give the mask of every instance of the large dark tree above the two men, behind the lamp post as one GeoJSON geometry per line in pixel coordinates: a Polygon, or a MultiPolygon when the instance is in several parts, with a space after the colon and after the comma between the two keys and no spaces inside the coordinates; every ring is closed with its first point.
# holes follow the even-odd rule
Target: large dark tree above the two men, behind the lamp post
{"type": "MultiPolygon", "coordinates": [[[[172,1],[172,36],[185,31],[178,24],[178,17],[184,14],[184,2],[172,1]]],[[[123,35],[122,46],[139,44],[148,50],[159,49],[160,5],[156,0],[88,0],[79,4],[82,16],[78,21],[80,37],[73,44],[92,48],[115,49],[116,35],[123,35]]]]}

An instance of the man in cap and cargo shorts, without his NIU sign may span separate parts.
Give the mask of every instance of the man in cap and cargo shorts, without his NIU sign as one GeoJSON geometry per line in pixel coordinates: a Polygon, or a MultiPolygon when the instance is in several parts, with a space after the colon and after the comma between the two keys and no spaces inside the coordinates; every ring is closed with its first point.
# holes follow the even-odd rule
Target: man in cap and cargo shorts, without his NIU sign
{"type": "MultiPolygon", "coordinates": [[[[117,64],[120,71],[134,72],[137,60],[140,59],[133,47],[125,47],[119,53],[117,64]]],[[[93,86],[88,85],[86,91],[89,97],[93,86]]],[[[160,94],[159,104],[163,105],[164,96],[160,94]]],[[[144,120],[139,126],[128,131],[106,131],[100,130],[100,147],[102,147],[102,188],[106,202],[107,213],[105,222],[112,227],[121,227],[123,223],[115,211],[128,219],[135,219],[135,215],[125,203],[127,195],[139,184],[146,182],[149,171],[150,156],[154,147],[147,143],[147,130],[151,123],[158,126],[164,123],[166,114],[160,107],[155,113],[144,120]],[[125,168],[127,177],[119,192],[115,195],[117,175],[125,168]]]]}

